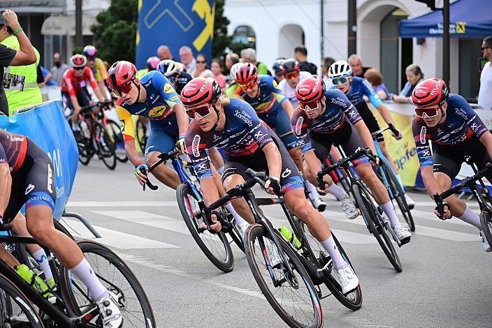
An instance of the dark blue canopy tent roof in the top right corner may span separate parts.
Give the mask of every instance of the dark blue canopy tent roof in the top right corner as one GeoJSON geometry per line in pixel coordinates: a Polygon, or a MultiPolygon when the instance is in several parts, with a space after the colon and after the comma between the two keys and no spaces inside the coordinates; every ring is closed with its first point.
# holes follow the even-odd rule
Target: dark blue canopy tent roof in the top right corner
{"type": "MultiPolygon", "coordinates": [[[[458,0],[449,5],[449,36],[481,38],[492,35],[492,1],[458,0]]],[[[402,38],[442,38],[442,10],[400,20],[402,38]]]]}

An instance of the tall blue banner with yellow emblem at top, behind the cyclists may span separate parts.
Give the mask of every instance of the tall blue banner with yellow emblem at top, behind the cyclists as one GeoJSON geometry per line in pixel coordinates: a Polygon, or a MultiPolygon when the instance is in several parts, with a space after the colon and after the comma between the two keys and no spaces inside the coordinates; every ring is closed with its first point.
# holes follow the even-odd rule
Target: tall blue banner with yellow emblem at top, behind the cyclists
{"type": "Polygon", "coordinates": [[[194,55],[212,54],[214,35],[214,0],[140,0],[136,66],[147,67],[147,59],[157,56],[157,47],[167,45],[180,61],[180,47],[191,47],[194,55]]]}

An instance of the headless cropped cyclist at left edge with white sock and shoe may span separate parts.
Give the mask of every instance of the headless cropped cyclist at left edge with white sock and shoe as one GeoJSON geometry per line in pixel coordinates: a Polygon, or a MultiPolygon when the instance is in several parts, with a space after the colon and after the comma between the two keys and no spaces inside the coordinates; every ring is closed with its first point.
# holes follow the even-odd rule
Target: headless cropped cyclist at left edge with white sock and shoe
{"type": "MultiPolygon", "coordinates": [[[[103,327],[122,327],[117,296],[101,284],[77,244],[55,230],[54,172],[48,155],[31,139],[0,129],[0,221],[10,222],[26,204],[29,233],[52,249],[61,264],[87,286],[99,306],[103,327]]],[[[20,265],[3,247],[0,256],[10,267],[20,265]]]]}

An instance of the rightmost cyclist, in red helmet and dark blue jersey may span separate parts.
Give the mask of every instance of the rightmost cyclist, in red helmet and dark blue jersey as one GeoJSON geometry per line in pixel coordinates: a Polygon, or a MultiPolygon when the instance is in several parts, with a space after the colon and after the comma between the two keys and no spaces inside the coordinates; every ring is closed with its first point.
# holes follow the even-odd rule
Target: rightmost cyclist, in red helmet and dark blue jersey
{"type": "MultiPolygon", "coordinates": [[[[412,131],[420,172],[431,197],[451,187],[465,155],[470,156],[479,169],[492,162],[491,133],[465,98],[449,94],[443,80],[427,79],[417,84],[412,101],[416,106],[417,117],[414,117],[412,131]]],[[[492,181],[492,174],[486,175],[486,179],[492,181]]],[[[475,226],[482,237],[484,250],[490,252],[479,216],[455,195],[446,200],[449,205],[444,208],[444,218],[451,218],[452,214],[475,226]]]]}

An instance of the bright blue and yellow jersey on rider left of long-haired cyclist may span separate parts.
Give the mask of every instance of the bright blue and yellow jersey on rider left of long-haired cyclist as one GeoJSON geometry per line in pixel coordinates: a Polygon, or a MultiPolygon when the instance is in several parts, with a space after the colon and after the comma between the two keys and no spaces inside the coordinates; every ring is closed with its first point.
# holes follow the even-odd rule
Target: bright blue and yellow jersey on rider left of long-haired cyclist
{"type": "MultiPolygon", "coordinates": [[[[157,70],[145,74],[140,79],[140,83],[140,87],[147,91],[145,102],[129,105],[121,97],[116,101],[116,111],[122,122],[122,134],[125,141],[135,139],[132,114],[147,117],[151,122],[163,120],[167,122],[171,116],[175,116],[174,105],[181,103],[180,96],[176,94],[171,82],[157,70]]],[[[161,122],[161,124],[165,123],[161,122]]]]}

